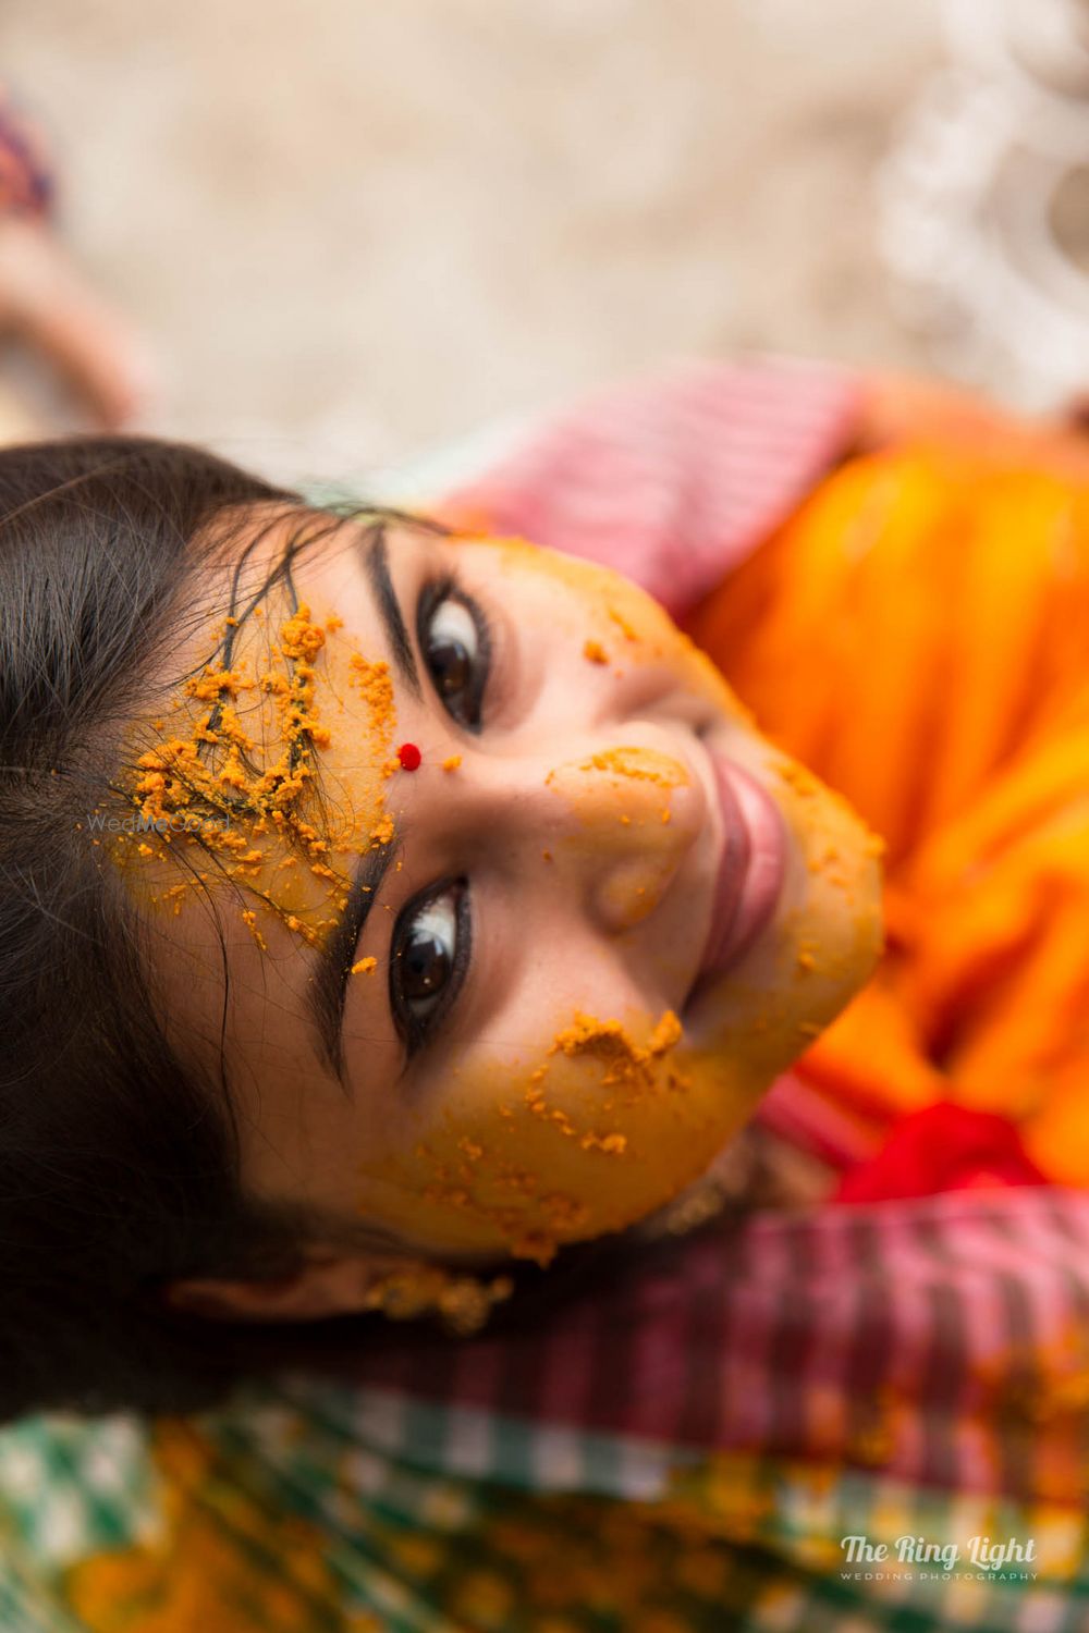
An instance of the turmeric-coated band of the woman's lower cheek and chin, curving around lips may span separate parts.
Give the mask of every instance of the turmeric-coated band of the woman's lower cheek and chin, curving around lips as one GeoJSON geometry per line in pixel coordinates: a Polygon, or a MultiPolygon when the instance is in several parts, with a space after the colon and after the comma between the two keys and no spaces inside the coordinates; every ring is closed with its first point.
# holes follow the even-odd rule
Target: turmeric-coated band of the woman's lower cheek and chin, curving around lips
{"type": "MultiPolygon", "coordinates": [[[[771,751],[761,745],[761,754],[771,751]]],[[[880,950],[880,846],[849,807],[772,754],[793,848],[776,934],[678,1017],[571,1012],[531,1052],[454,1068],[436,1110],[361,1172],[359,1212],[436,1254],[547,1264],[637,1223],[697,1179],[813,1042],[880,950]]]]}

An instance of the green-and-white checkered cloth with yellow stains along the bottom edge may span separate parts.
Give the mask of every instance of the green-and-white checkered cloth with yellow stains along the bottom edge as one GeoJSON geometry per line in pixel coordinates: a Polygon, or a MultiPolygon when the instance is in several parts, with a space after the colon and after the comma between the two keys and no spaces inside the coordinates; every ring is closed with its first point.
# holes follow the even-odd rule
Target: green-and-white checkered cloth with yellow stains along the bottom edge
{"type": "Polygon", "coordinates": [[[20,1422],[0,1437],[0,1515],[11,1633],[1089,1625],[1082,1520],[1060,1507],[671,1457],[302,1378],[184,1424],[20,1422]],[[1038,1558],[998,1577],[847,1568],[851,1533],[1032,1535],[1038,1558]]]}

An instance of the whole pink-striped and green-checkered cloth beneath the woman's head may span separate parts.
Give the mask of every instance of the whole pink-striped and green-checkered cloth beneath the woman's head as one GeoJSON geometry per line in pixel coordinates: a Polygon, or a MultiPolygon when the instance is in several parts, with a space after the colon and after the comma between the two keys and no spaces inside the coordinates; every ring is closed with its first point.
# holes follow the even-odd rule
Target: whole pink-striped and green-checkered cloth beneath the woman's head
{"type": "Polygon", "coordinates": [[[0,1625],[1082,1633],[1089,1390],[1060,1339],[1087,1238],[1089,1199],[1043,1189],[756,1215],[454,1359],[410,1334],[189,1419],[23,1421],[0,1625]]]}

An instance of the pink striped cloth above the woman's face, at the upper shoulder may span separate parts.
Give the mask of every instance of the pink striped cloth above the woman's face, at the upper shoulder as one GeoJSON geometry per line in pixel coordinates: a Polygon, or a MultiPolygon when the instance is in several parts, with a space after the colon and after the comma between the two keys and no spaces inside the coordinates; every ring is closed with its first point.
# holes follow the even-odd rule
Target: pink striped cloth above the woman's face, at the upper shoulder
{"type": "Polygon", "coordinates": [[[616,567],[678,616],[846,451],[860,397],[826,364],[692,364],[536,425],[439,508],[616,567]]]}

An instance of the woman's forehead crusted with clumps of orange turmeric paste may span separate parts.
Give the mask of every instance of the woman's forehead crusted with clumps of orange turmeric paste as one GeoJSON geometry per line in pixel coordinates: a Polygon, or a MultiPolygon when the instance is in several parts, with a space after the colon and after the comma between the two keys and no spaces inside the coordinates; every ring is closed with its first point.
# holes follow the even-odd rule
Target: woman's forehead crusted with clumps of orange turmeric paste
{"type": "Polygon", "coordinates": [[[178,678],[126,745],[126,875],[173,914],[216,892],[261,949],[282,934],[318,947],[361,857],[395,833],[390,663],[362,598],[351,627],[366,642],[323,593],[318,550],[344,531],[304,516],[245,544],[225,601],[194,621],[178,678]]]}

